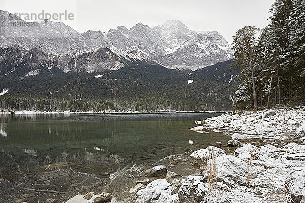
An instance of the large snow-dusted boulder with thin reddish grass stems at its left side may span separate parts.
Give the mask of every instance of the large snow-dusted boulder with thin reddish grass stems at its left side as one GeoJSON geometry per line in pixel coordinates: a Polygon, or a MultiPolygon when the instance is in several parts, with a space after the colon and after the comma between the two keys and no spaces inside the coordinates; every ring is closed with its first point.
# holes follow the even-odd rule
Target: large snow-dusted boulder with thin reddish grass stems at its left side
{"type": "Polygon", "coordinates": [[[210,159],[207,163],[207,168],[210,168],[210,171],[207,170],[204,174],[205,180],[213,178],[217,181],[223,181],[223,183],[231,188],[247,182],[247,163],[235,156],[220,156],[216,158],[216,162],[210,159]],[[217,172],[216,174],[215,170],[217,172]],[[211,177],[214,175],[216,177],[211,177]]]}

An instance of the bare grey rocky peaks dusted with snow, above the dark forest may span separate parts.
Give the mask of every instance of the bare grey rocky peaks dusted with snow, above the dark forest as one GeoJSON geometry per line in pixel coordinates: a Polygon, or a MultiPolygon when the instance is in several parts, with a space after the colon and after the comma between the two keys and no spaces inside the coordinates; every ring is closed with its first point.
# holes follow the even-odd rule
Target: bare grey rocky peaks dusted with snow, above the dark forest
{"type": "MultiPolygon", "coordinates": [[[[232,58],[232,50],[217,31],[192,31],[178,20],[156,27],[141,23],[131,29],[118,26],[107,33],[79,33],[63,22],[47,19],[34,26],[13,26],[14,22],[26,23],[0,10],[0,47],[38,48],[50,55],[75,55],[102,47],[147,58],[170,69],[191,70],[232,58]]],[[[91,66],[90,70],[99,71],[95,64],[91,66]]]]}

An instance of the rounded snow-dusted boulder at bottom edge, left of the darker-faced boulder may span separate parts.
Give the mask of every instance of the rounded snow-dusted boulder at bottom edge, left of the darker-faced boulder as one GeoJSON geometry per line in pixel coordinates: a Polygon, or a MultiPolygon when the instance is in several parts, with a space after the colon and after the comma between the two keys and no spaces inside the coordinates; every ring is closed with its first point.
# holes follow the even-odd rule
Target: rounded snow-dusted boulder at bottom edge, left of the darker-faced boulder
{"type": "Polygon", "coordinates": [[[157,179],[149,183],[146,188],[137,192],[138,203],[167,203],[171,197],[171,184],[165,179],[157,179]]]}

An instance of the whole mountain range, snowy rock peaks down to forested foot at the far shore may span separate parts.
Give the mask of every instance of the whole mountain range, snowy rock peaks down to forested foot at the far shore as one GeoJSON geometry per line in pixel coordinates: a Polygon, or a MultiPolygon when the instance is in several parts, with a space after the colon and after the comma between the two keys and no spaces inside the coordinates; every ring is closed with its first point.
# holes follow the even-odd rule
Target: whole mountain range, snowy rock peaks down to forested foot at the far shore
{"type": "Polygon", "coordinates": [[[232,110],[239,71],[217,31],[178,20],[107,33],[47,19],[12,22],[27,23],[0,11],[0,108],[232,110]]]}

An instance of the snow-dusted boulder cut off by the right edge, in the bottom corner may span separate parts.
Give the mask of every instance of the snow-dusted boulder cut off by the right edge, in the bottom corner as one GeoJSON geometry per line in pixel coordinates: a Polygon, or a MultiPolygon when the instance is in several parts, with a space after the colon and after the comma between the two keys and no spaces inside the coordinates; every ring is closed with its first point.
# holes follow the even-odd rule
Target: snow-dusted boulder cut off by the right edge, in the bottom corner
{"type": "Polygon", "coordinates": [[[305,166],[295,167],[285,183],[297,202],[305,200],[305,166]]]}

